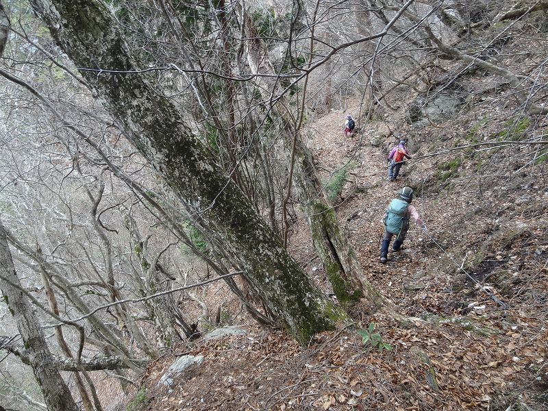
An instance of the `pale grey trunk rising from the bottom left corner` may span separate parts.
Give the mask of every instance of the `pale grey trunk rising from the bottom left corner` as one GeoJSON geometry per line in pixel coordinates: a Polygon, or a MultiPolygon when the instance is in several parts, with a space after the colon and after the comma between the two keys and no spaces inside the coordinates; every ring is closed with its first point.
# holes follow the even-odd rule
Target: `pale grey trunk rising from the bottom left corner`
{"type": "MultiPolygon", "coordinates": [[[[1,5],[0,5],[1,7],[1,5]]],[[[53,364],[40,323],[22,291],[12,253],[0,221],[0,289],[17,324],[34,377],[42,390],[49,411],[77,411],[69,387],[53,364]]]]}

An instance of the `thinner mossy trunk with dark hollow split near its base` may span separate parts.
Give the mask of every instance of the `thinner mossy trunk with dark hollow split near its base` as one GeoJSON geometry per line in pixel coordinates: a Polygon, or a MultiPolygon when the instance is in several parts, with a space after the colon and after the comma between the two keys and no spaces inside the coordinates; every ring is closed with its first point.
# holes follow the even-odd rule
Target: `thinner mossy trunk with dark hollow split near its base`
{"type": "MultiPolygon", "coordinates": [[[[268,100],[271,94],[282,90],[275,89],[278,82],[273,64],[269,60],[266,45],[260,38],[258,28],[247,10],[242,10],[242,18],[245,33],[249,39],[247,42],[249,69],[255,75],[264,75],[264,77],[258,77],[262,82],[258,89],[262,90],[263,97],[268,100]]],[[[313,55],[312,45],[310,47],[310,55],[313,55]]],[[[292,105],[286,97],[279,97],[272,109],[284,123],[284,144],[292,160],[291,183],[299,196],[299,205],[310,227],[314,248],[323,262],[338,301],[343,306],[349,306],[360,297],[365,297],[375,306],[393,307],[393,304],[364,276],[356,254],[340,229],[335,210],[327,201],[323,184],[312,160],[312,153],[303,142],[297,124],[299,113],[295,116],[290,112],[290,107],[292,105]]]]}

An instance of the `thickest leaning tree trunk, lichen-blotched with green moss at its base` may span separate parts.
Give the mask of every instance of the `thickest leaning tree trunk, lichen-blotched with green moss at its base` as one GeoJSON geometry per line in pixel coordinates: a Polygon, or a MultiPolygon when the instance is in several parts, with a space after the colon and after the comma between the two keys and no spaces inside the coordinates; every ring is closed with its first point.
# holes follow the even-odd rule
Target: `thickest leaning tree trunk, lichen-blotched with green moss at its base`
{"type": "Polygon", "coordinates": [[[262,292],[269,308],[306,344],[347,319],[310,282],[244,195],[192,136],[177,109],[140,71],[116,19],[101,1],[32,0],[58,45],[127,136],[186,202],[190,213],[225,240],[229,253],[262,292]]]}

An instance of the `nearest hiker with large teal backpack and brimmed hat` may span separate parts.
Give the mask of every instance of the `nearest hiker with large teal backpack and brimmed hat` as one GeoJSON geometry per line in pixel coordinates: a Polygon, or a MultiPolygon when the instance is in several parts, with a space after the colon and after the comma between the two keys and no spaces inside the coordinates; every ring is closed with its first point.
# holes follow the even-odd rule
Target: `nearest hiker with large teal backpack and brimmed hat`
{"type": "Polygon", "coordinates": [[[409,219],[412,218],[416,224],[421,227],[423,232],[427,232],[425,223],[416,212],[416,208],[411,206],[413,198],[413,189],[411,187],[403,187],[398,191],[398,198],[390,201],[388,209],[384,212],[382,222],[384,224],[384,236],[381,244],[381,262],[386,263],[388,256],[388,246],[393,236],[397,236],[392,246],[392,251],[399,251],[403,240],[406,239],[407,230],[409,229],[409,219]]]}

